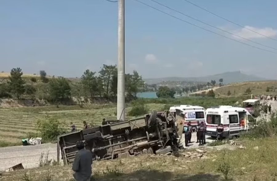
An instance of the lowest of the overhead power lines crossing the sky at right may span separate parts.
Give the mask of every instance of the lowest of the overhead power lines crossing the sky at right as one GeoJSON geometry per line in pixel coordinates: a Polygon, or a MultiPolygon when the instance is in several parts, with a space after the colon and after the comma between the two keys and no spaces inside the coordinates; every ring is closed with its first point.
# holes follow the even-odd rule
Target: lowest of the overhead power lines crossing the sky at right
{"type": "Polygon", "coordinates": [[[263,49],[263,48],[259,48],[259,47],[257,47],[257,46],[253,46],[253,45],[250,45],[250,44],[241,42],[241,41],[239,41],[239,40],[236,40],[236,39],[233,39],[233,38],[229,38],[229,37],[224,36],[224,35],[222,35],[222,34],[219,34],[219,33],[216,33],[216,32],[214,32],[214,31],[211,31],[211,30],[208,30],[208,29],[206,29],[206,28],[203,28],[203,27],[201,27],[201,26],[195,25],[195,24],[193,24],[193,23],[191,23],[191,22],[188,22],[188,21],[183,20],[183,19],[181,19],[181,18],[178,18],[178,17],[176,17],[176,16],[174,16],[174,15],[171,15],[171,14],[169,14],[169,13],[167,13],[167,12],[164,12],[164,11],[162,11],[162,10],[159,10],[158,8],[155,8],[155,7],[153,7],[153,6],[150,6],[150,5],[148,5],[148,4],[144,3],[144,2],[141,2],[141,1],[139,1],[139,0],[134,0],[134,1],[139,2],[139,3],[141,3],[141,4],[145,5],[145,6],[148,6],[148,7],[152,8],[152,9],[154,9],[154,10],[157,10],[157,11],[163,13],[163,14],[167,14],[168,16],[171,16],[172,18],[178,19],[178,20],[183,21],[183,22],[185,22],[185,23],[187,23],[187,24],[190,24],[190,25],[192,25],[192,26],[198,27],[198,28],[200,28],[200,29],[202,29],[202,30],[211,32],[211,33],[213,33],[213,34],[217,34],[217,35],[219,35],[219,36],[221,36],[221,37],[224,37],[224,38],[233,40],[233,41],[235,41],[235,42],[239,42],[239,43],[241,43],[241,44],[250,46],[250,47],[252,47],[252,48],[256,48],[256,49],[259,49],[259,50],[263,50],[263,51],[267,51],[267,52],[270,52],[270,53],[277,54],[277,53],[274,52],[274,51],[270,51],[270,50],[266,50],[266,49],[263,49]]]}

